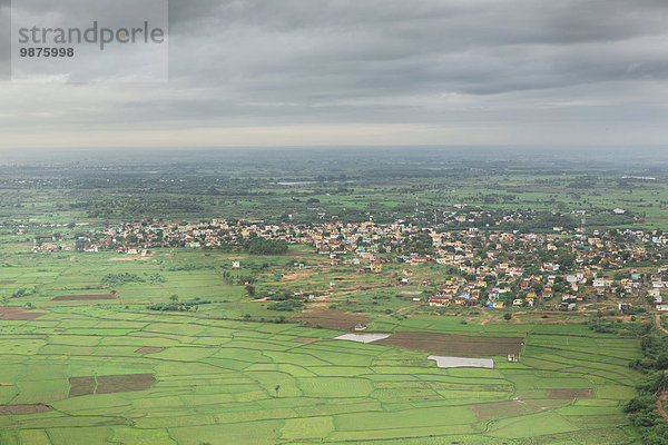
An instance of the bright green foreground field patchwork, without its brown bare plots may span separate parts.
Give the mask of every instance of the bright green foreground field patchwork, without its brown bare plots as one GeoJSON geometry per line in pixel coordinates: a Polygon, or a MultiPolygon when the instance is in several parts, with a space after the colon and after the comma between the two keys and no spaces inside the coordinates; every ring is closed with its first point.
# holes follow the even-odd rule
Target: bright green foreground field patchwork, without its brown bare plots
{"type": "Polygon", "coordinates": [[[626,366],[639,356],[632,339],[533,329],[518,364],[440,369],[425,354],[292,324],[48,310],[2,324],[0,404],[53,408],[0,416],[3,444],[633,443],[621,412],[638,378],[626,366]],[[147,346],[164,349],[136,353],[147,346]],[[141,373],[155,375],[149,389],[68,397],[69,377],[141,373]]]}

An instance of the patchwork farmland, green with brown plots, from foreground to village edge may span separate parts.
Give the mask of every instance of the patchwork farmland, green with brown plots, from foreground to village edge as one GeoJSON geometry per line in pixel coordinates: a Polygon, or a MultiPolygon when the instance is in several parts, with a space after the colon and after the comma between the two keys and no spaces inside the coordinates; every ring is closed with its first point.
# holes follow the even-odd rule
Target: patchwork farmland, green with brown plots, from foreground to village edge
{"type": "MultiPolygon", "coordinates": [[[[143,259],[6,250],[0,443],[639,443],[622,413],[639,378],[628,367],[641,356],[638,339],[593,333],[577,317],[400,319],[317,303],[276,323],[266,301],[225,278],[230,259],[202,250],[143,259]],[[120,274],[141,280],[106,279],[120,274]],[[210,303],[147,309],[171,295],[210,303]],[[335,339],[360,322],[390,337],[335,339]],[[428,359],[434,354],[492,358],[494,368],[440,368],[428,359]]],[[[321,276],[322,258],[299,249],[263,258],[262,273],[259,258],[240,261],[234,274],[255,270],[262,291],[331,279],[321,276]],[[295,260],[304,271],[293,270],[295,260]]],[[[351,289],[385,286],[382,276],[347,276],[351,289]]]]}

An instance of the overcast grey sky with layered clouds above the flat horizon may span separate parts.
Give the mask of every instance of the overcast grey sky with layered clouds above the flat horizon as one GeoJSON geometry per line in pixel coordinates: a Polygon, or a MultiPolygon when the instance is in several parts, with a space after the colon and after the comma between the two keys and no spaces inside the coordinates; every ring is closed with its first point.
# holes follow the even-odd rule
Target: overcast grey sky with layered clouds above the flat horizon
{"type": "Polygon", "coordinates": [[[666,0],[171,0],[156,83],[12,82],[9,12],[0,155],[668,146],[666,0]]]}

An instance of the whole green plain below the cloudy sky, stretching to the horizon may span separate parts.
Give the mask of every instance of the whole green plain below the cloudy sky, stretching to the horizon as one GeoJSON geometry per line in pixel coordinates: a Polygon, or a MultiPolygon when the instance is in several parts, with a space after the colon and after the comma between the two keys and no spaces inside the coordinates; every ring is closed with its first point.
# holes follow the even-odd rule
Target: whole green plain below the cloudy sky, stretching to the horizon
{"type": "Polygon", "coordinates": [[[406,152],[0,166],[0,444],[666,443],[662,164],[406,152]],[[472,235],[515,230],[553,239],[472,235]],[[479,303],[431,306],[453,280],[479,303]],[[355,329],[403,340],[334,339],[355,329]]]}

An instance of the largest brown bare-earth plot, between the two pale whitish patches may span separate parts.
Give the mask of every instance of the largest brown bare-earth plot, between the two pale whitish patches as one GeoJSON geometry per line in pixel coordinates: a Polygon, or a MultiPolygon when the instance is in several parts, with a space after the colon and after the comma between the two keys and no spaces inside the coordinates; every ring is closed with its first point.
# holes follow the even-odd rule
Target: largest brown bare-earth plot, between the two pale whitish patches
{"type": "Polygon", "coordinates": [[[403,347],[435,355],[479,357],[520,354],[521,337],[479,337],[444,333],[400,330],[376,345],[403,347]]]}

